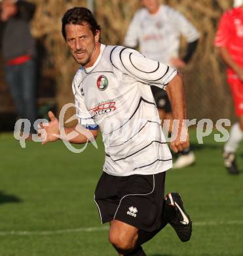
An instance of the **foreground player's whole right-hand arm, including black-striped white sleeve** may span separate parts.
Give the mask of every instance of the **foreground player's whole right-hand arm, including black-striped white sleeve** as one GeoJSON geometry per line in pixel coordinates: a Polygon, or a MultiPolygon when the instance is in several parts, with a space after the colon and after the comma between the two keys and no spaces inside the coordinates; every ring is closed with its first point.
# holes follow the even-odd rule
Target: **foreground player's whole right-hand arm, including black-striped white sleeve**
{"type": "MultiPolygon", "coordinates": [[[[166,89],[172,104],[172,114],[175,125],[174,133],[178,131],[176,139],[171,142],[174,152],[183,150],[189,146],[188,134],[183,133],[185,128],[185,95],[181,75],[174,68],[161,62],[145,58],[143,55],[132,49],[117,47],[111,54],[111,62],[115,62],[116,68],[122,73],[128,74],[135,81],[141,81],[144,85],[155,85],[160,89],[166,89]],[[176,123],[178,126],[176,127],[176,123]]],[[[172,132],[173,132],[172,131],[172,132]]],[[[173,136],[174,137],[174,136],[173,136]]]]}

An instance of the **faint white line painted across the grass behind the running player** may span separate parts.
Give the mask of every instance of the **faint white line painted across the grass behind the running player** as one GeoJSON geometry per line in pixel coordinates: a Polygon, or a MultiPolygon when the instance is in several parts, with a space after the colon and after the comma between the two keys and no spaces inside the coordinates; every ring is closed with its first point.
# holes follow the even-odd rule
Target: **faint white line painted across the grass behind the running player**
{"type": "MultiPolygon", "coordinates": [[[[193,222],[193,226],[219,226],[219,225],[243,225],[243,221],[209,221],[193,222]]],[[[50,236],[55,234],[97,232],[109,230],[109,226],[90,227],[90,228],[67,228],[62,230],[43,230],[43,231],[0,231],[0,236],[50,236]]]]}

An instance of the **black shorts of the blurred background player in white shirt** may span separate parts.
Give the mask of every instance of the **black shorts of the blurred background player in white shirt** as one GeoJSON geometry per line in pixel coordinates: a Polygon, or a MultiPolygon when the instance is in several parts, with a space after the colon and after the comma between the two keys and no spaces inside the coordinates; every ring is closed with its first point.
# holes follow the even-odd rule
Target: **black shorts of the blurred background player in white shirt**
{"type": "Polygon", "coordinates": [[[151,91],[153,93],[153,97],[155,98],[157,108],[161,108],[166,113],[171,113],[172,107],[166,91],[157,86],[151,86],[151,91]]]}

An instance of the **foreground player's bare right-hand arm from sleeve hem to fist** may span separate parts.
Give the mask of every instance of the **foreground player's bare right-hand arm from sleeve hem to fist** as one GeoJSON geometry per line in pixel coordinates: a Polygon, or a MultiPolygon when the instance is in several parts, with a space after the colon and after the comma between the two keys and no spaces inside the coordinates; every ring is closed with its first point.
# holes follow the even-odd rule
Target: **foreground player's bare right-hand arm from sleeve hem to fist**
{"type": "Polygon", "coordinates": [[[189,147],[189,135],[185,127],[186,106],[185,93],[181,75],[177,74],[166,86],[166,92],[172,105],[173,127],[170,148],[177,153],[189,147]]]}

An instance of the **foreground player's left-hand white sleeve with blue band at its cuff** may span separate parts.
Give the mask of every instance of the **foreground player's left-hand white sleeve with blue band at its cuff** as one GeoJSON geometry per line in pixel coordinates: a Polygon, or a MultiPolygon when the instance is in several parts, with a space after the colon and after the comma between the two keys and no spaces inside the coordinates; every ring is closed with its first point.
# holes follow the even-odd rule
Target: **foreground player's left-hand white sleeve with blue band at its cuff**
{"type": "Polygon", "coordinates": [[[77,86],[77,81],[73,79],[73,95],[75,97],[76,115],[79,123],[86,129],[96,130],[98,125],[94,122],[94,117],[88,112],[86,105],[84,104],[84,98],[82,95],[82,88],[77,86]]]}

